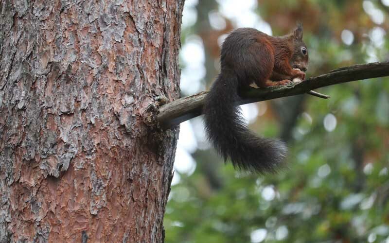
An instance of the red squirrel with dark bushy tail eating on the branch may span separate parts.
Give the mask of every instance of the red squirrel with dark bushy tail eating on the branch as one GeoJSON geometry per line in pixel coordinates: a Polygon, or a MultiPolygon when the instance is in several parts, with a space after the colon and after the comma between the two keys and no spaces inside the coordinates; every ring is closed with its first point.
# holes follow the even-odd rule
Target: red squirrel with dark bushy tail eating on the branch
{"type": "Polygon", "coordinates": [[[248,130],[236,106],[238,89],[260,88],[304,80],[308,51],[302,41],[302,25],[290,34],[270,36],[252,28],[234,30],[221,48],[221,72],[205,98],[204,123],[208,139],[234,167],[257,172],[276,172],[286,156],[283,141],[257,137],[248,130]]]}

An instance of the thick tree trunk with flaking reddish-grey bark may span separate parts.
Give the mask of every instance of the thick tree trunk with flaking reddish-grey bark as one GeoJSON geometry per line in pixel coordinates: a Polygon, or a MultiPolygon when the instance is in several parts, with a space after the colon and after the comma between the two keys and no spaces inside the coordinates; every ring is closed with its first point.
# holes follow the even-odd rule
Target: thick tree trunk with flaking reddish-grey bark
{"type": "Polygon", "coordinates": [[[1,243],[163,241],[183,2],[1,1],[1,243]]]}

